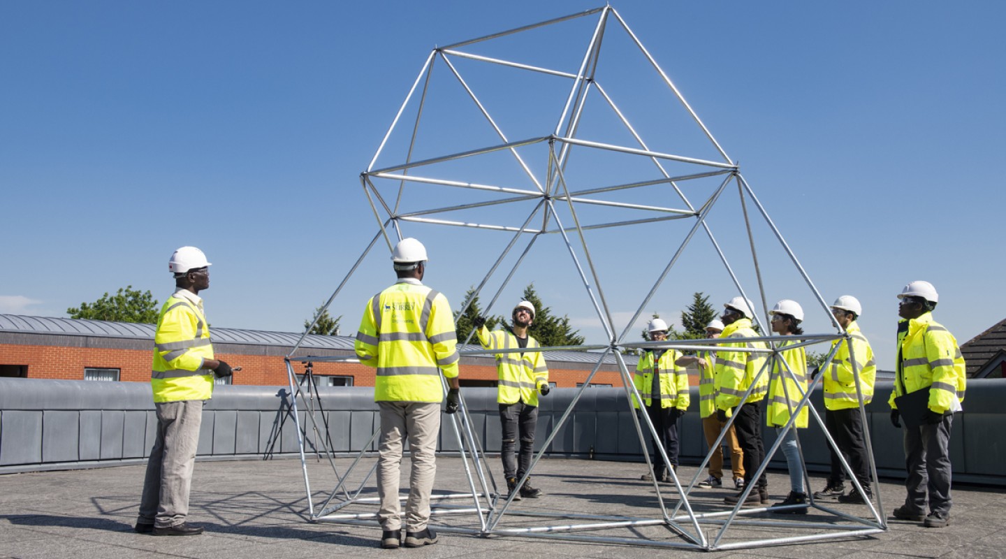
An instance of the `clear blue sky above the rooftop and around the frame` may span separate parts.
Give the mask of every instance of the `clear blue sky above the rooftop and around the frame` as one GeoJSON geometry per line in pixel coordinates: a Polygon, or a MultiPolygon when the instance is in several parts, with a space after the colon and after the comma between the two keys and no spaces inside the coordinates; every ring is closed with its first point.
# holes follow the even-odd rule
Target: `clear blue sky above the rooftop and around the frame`
{"type": "MultiPolygon", "coordinates": [[[[126,285],[163,301],[172,287],[168,256],[193,244],[214,263],[212,287],[204,294],[214,326],[300,330],[377,230],[358,175],[431,49],[600,5],[0,3],[6,237],[0,244],[0,312],[65,316],[67,307],[126,285]]],[[[1006,5],[613,6],[740,163],[824,298],[830,303],[852,294],[862,301],[861,325],[881,368],[893,366],[894,296],[909,281],[936,285],[937,319],[962,343],[1004,318],[1006,57],[1000,27],[1006,5]]],[[[567,62],[563,53],[583,51],[596,18],[577,21],[534,34],[526,44],[499,41],[497,49],[477,51],[513,53],[530,64],[567,62]]],[[[609,79],[605,85],[621,96],[645,140],[688,152],[693,138],[674,128],[681,108],[666,88],[651,87],[652,75],[639,87],[616,86],[637,83],[646,65],[612,29],[605,42],[611,52],[605,51],[599,68],[609,79]],[[623,55],[630,61],[619,61],[623,55]]],[[[564,69],[574,71],[575,64],[564,69]]],[[[539,115],[531,107],[550,90],[522,88],[513,72],[471,71],[472,86],[501,115],[501,126],[513,127],[506,129],[510,139],[551,132],[557,114],[539,115]]],[[[443,65],[435,75],[450,77],[443,65]]],[[[466,128],[474,113],[463,96],[443,99],[448,101],[431,102],[424,117],[431,127],[423,129],[418,153],[497,141],[484,127],[466,128]]],[[[629,145],[617,128],[599,119],[584,123],[582,137],[629,145]]],[[[389,149],[401,145],[399,140],[389,149]]],[[[708,145],[695,153],[709,157],[708,145]]],[[[570,161],[583,163],[578,174],[570,171],[571,187],[639,176],[604,155],[595,160],[579,152],[570,161]]],[[[502,165],[451,172],[459,178],[471,172],[472,182],[519,182],[497,167],[502,165]]],[[[648,172],[652,176],[653,169],[648,172]]],[[[443,190],[411,192],[454,195],[443,190]]],[[[647,203],[645,197],[634,201],[647,203]]],[[[710,214],[710,226],[736,262],[748,296],[760,301],[737,211],[736,190],[729,190],[710,214]]],[[[472,220],[519,224],[526,216],[526,209],[515,208],[472,220]]],[[[620,331],[680,244],[687,231],[682,223],[589,238],[604,295],[616,322],[623,321],[620,331]]],[[[406,224],[404,230],[429,245],[427,283],[455,307],[509,240],[459,228],[406,224]]],[[[796,299],[808,310],[806,330],[827,332],[824,311],[764,221],[753,230],[769,306],[796,299]]],[[[600,342],[596,315],[556,240],[539,241],[541,249],[521,266],[494,311],[505,313],[534,282],[553,312],[569,316],[590,342],[600,342]]],[[[386,248],[378,249],[383,251],[363,260],[333,304],[344,332],[355,330],[365,299],[392,281],[386,248]]],[[[511,266],[494,276],[484,302],[511,266]]],[[[689,244],[644,318],[656,312],[676,319],[697,291],[717,307],[736,295],[702,236],[689,244]]]]}

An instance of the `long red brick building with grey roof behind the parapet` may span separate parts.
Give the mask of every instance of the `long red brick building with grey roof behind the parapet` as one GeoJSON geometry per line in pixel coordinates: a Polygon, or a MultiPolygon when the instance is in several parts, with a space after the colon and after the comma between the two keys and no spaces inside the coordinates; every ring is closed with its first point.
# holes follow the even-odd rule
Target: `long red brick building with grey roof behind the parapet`
{"type": "MultiPolygon", "coordinates": [[[[286,385],[285,357],[301,334],[213,328],[216,356],[240,366],[234,384],[286,385]]],[[[0,315],[0,377],[149,382],[154,325],[76,319],[0,315]]],[[[477,346],[471,350],[480,349],[477,346]]],[[[353,338],[308,336],[291,359],[303,373],[306,356],[353,356],[353,338]]],[[[635,356],[624,356],[630,370],[635,356]]],[[[579,386],[598,363],[597,353],[546,352],[549,381],[579,386]]],[[[374,370],[356,363],[317,362],[314,374],[330,386],[373,386],[374,370]]],[[[463,386],[495,386],[496,366],[490,357],[461,359],[463,386]]],[[[692,379],[693,384],[695,379],[692,379]]],[[[621,386],[615,359],[609,356],[592,385],[621,386]]]]}

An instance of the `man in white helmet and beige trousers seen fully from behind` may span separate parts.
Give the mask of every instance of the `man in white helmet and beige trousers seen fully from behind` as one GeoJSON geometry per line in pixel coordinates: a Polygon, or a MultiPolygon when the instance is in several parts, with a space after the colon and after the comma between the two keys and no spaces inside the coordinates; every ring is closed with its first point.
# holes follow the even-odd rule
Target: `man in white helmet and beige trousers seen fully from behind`
{"type": "Polygon", "coordinates": [[[374,401],[380,407],[380,458],[377,464],[381,547],[401,543],[398,502],[402,439],[408,437],[412,469],[405,502],[405,547],[437,542],[430,522],[430,494],[437,475],[437,435],[443,373],[450,383],[447,413],[460,405],[458,337],[451,305],[423,285],[427,249],[414,238],[401,239],[391,254],[398,281],[367,302],[354,348],[360,363],[377,369],[374,401]]]}

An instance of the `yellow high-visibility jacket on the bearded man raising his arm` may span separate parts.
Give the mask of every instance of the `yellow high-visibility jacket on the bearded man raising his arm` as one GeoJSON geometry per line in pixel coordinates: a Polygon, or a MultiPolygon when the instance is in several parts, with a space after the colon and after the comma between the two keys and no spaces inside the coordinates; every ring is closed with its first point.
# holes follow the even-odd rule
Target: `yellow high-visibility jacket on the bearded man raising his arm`
{"type": "MultiPolygon", "coordinates": [[[[489,332],[485,326],[479,328],[479,343],[487,350],[518,349],[517,337],[509,332],[497,330],[489,332]]],[[[527,337],[527,347],[541,347],[534,338],[527,337]]],[[[527,405],[538,405],[538,389],[548,384],[548,367],[545,356],[540,351],[508,352],[494,354],[496,357],[496,372],[499,382],[496,390],[496,401],[501,404],[524,402],[527,405]]]]}

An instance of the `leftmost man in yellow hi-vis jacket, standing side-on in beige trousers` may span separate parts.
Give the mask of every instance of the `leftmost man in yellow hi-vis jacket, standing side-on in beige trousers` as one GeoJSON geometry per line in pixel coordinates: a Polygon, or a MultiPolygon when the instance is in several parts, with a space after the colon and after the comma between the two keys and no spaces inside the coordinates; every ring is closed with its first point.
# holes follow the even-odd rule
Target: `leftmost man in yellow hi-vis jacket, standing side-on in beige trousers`
{"type": "Polygon", "coordinates": [[[209,265],[202,250],[194,246],[182,246],[168,260],[176,289],[161,308],[154,335],[150,383],[157,438],[147,460],[140,516],[134,527],[141,534],[195,536],[203,530],[186,522],[202,403],[213,395],[213,374],[231,374],[229,365],[214,359],[209,325],[197,295],[209,288],[209,265]]]}

